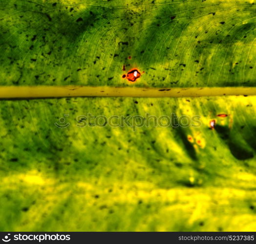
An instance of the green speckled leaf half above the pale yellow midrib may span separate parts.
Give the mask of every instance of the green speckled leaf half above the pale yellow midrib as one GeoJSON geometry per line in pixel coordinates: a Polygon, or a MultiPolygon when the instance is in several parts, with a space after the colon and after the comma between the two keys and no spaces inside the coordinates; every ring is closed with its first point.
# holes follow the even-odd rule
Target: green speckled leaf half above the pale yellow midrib
{"type": "Polygon", "coordinates": [[[255,86],[255,11],[233,0],[2,0],[0,84],[255,86]],[[142,77],[130,84],[133,68],[142,77]]]}

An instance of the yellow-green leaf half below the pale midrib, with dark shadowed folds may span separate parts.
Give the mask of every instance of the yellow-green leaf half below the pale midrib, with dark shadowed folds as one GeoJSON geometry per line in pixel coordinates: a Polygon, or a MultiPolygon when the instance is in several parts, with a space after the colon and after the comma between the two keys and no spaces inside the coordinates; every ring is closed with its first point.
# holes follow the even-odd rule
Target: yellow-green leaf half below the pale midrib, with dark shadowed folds
{"type": "Polygon", "coordinates": [[[255,104],[255,97],[2,101],[0,230],[252,231],[255,104]],[[88,114],[118,116],[113,124],[151,119],[114,127],[99,117],[94,126],[88,114]],[[171,114],[179,118],[172,125],[163,117],[171,114]]]}

